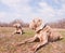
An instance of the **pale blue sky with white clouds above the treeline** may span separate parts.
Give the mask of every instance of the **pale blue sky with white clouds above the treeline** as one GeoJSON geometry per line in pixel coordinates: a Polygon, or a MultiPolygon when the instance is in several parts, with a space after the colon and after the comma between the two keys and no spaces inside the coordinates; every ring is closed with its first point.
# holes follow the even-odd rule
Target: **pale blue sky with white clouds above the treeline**
{"type": "Polygon", "coordinates": [[[0,0],[0,22],[40,17],[46,23],[65,18],[65,0],[0,0]]]}

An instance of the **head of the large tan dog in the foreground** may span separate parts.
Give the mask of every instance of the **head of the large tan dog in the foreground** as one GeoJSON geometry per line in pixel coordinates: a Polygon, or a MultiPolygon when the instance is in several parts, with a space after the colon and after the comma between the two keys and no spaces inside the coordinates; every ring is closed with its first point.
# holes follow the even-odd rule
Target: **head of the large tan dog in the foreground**
{"type": "Polygon", "coordinates": [[[42,19],[34,18],[29,24],[29,28],[36,30],[36,28],[39,27],[41,24],[42,24],[42,19]]]}

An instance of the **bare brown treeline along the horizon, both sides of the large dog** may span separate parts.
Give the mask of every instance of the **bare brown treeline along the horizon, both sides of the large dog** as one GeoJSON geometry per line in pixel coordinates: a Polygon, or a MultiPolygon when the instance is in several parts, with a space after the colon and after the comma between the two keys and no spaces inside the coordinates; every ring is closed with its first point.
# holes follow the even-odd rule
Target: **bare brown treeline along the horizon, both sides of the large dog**
{"type": "MultiPolygon", "coordinates": [[[[10,22],[10,23],[2,23],[0,22],[0,27],[12,27],[13,24],[16,23],[17,19],[14,19],[13,22],[10,22]]],[[[21,25],[23,27],[28,27],[29,24],[28,23],[24,23],[23,21],[20,21],[21,25]]],[[[65,28],[65,18],[63,19],[60,19],[55,23],[49,23],[49,25],[52,27],[52,28],[65,28]]]]}

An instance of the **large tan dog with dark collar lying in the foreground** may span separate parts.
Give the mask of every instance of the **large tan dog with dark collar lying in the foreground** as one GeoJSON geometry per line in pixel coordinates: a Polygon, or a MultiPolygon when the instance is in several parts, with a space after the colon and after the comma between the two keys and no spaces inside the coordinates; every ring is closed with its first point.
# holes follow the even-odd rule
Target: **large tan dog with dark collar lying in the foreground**
{"type": "Polygon", "coordinates": [[[36,31],[36,35],[32,38],[29,38],[27,40],[24,40],[18,45],[24,44],[26,42],[34,42],[37,38],[40,40],[39,44],[36,44],[31,48],[34,52],[37,51],[40,47],[47,44],[49,41],[55,41],[58,39],[62,39],[63,37],[54,31],[50,26],[44,25],[42,19],[35,18],[29,24],[29,28],[34,29],[36,31]]]}

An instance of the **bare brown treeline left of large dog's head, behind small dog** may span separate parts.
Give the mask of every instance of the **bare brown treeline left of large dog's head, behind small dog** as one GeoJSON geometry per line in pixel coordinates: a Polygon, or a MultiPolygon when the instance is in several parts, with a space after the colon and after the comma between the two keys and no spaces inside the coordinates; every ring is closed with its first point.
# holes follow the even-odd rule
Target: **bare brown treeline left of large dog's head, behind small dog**
{"type": "Polygon", "coordinates": [[[23,21],[20,19],[14,19],[13,22],[10,23],[0,23],[0,27],[13,27],[13,24],[16,24],[17,21],[20,22],[22,27],[28,27],[28,23],[24,23],[23,21]]]}

